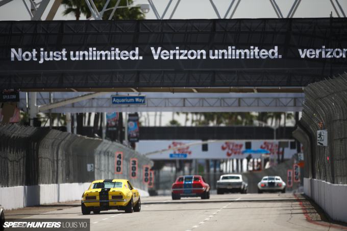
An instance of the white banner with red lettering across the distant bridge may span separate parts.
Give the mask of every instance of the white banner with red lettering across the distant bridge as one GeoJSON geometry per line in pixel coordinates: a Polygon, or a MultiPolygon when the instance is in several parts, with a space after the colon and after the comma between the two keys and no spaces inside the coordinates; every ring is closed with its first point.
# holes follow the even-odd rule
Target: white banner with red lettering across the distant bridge
{"type": "MultiPolygon", "coordinates": [[[[195,144],[199,140],[140,140],[136,145],[136,150],[142,154],[161,151],[151,156],[147,156],[153,160],[169,160],[169,159],[244,159],[251,155],[252,158],[261,158],[261,155],[269,155],[277,159],[278,142],[268,141],[252,141],[252,149],[264,149],[269,152],[264,153],[242,153],[245,148],[244,141],[215,141],[208,143],[208,150],[202,150],[202,144],[195,144]]],[[[289,147],[284,148],[284,159],[290,159],[296,153],[295,149],[289,147]]],[[[280,157],[282,156],[282,148],[280,148],[280,157]]]]}

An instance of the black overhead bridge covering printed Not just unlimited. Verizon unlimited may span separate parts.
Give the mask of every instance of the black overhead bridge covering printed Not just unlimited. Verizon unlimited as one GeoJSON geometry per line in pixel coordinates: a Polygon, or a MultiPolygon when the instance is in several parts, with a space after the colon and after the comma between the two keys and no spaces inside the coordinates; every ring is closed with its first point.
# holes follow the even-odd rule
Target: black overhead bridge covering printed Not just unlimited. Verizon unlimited
{"type": "Polygon", "coordinates": [[[0,22],[0,88],[306,86],[347,69],[347,19],[0,22]]]}

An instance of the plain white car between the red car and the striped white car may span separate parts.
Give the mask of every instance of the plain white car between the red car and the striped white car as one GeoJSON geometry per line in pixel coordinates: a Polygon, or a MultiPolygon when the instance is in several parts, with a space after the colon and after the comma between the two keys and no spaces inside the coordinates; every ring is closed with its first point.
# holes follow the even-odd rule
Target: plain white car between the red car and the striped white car
{"type": "Polygon", "coordinates": [[[224,194],[225,192],[247,193],[247,183],[243,182],[242,175],[221,175],[217,181],[217,194],[224,194]]]}

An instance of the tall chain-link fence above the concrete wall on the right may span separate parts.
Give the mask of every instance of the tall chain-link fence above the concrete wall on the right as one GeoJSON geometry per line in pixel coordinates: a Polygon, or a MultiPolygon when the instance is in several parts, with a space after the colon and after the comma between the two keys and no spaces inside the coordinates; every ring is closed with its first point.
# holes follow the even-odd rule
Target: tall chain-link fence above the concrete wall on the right
{"type": "Polygon", "coordinates": [[[347,184],[347,74],[311,84],[304,91],[300,123],[311,137],[312,177],[347,184]],[[317,145],[318,130],[328,130],[328,146],[317,145]]]}

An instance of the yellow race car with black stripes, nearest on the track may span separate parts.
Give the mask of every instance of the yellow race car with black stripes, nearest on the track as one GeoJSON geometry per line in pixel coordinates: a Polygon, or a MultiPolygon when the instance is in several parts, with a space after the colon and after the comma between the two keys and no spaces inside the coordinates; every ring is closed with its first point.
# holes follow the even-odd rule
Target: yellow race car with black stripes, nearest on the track
{"type": "Polygon", "coordinates": [[[107,210],[140,212],[140,194],[127,179],[100,179],[83,193],[81,207],[83,215],[107,210]]]}

